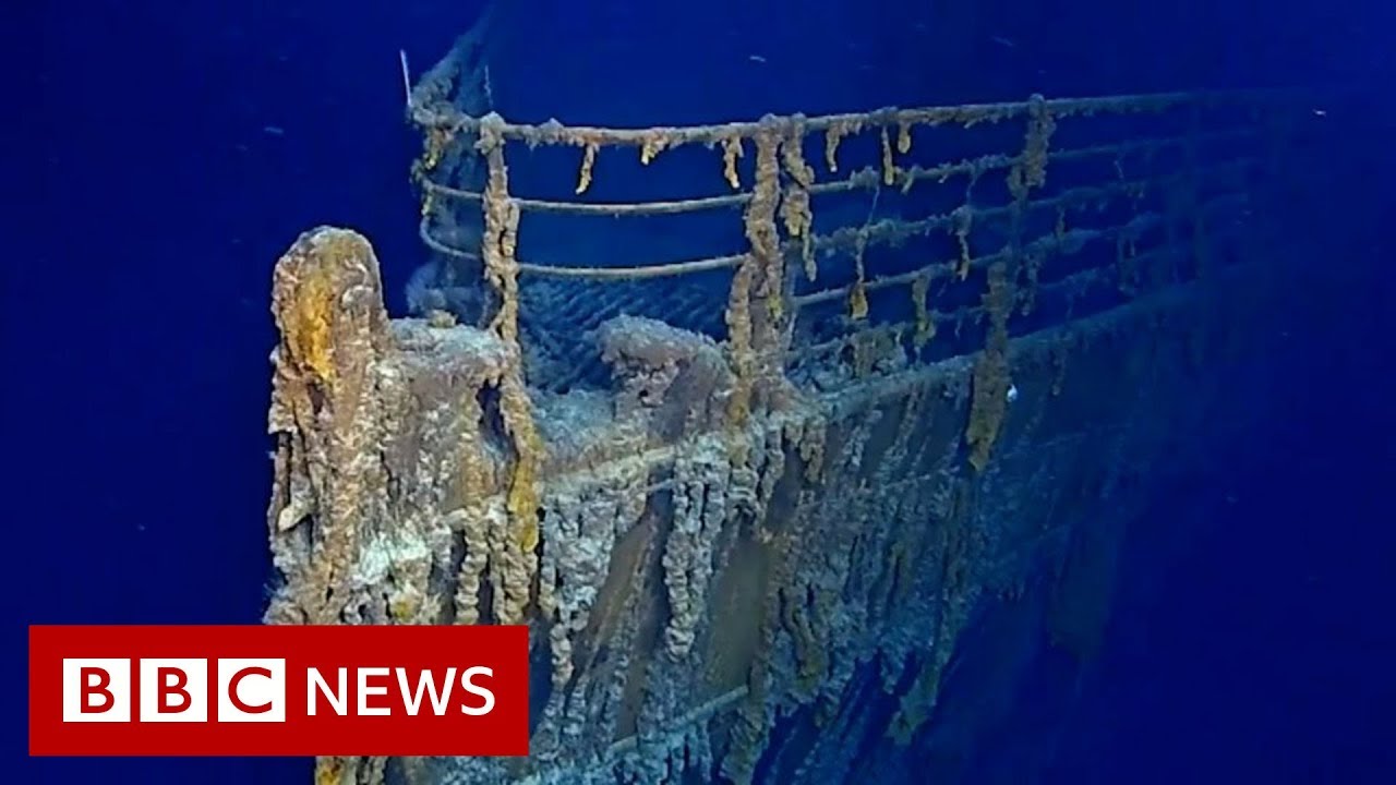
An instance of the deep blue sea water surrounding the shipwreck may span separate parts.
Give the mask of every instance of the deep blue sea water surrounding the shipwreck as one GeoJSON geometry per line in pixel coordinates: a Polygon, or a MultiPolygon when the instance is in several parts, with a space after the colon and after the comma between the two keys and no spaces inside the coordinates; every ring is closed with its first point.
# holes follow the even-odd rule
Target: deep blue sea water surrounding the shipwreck
{"type": "MultiPolygon", "coordinates": [[[[1369,265],[1354,298],[1372,313],[1396,303],[1396,8],[1376,0],[988,0],[956,47],[934,50],[917,38],[944,18],[934,0],[518,6],[529,27],[496,78],[521,120],[1351,85],[1361,101],[1315,115],[1332,148],[1294,162],[1340,172],[1335,198],[1356,226],[1314,264],[1369,265]]],[[[17,81],[0,223],[13,665],[0,782],[310,781],[304,760],[25,758],[24,624],[257,622],[271,267],[307,228],[353,226],[398,296],[422,261],[398,50],[424,68],[476,7],[0,10],[17,81]]],[[[1396,782],[1390,325],[1297,332],[1275,359],[1290,381],[1266,401],[1282,426],[1217,444],[1224,471],[1171,478],[1150,508],[1206,534],[1129,557],[1127,574],[1149,580],[1125,580],[1051,782],[1396,782]]]]}

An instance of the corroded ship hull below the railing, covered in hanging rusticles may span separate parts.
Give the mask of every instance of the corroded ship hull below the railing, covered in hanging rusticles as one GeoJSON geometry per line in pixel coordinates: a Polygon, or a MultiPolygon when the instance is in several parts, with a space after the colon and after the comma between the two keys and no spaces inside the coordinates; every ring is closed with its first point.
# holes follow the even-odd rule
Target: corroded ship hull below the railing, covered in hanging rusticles
{"type": "MultiPolygon", "coordinates": [[[[694,781],[718,768],[743,779],[762,756],[775,767],[765,781],[859,781],[903,746],[953,751],[963,714],[993,698],[937,708],[972,622],[1002,616],[1027,636],[970,647],[994,658],[976,663],[980,690],[1011,684],[1041,631],[1092,656],[1124,527],[1160,461],[1219,425],[1212,388],[1230,383],[1228,352],[1256,323],[1217,307],[1237,302],[1219,279],[1212,293],[1160,292],[1011,342],[1018,395],[984,471],[965,446],[972,358],[800,399],[740,432],[659,422],[688,419],[691,401],[624,413],[610,399],[554,399],[536,411],[550,451],[543,548],[529,555],[507,510],[508,440],[480,402],[507,365],[501,344],[389,323],[353,235],[307,235],[282,270],[302,296],[318,275],[355,281],[339,302],[367,288],[366,311],[335,321],[327,370],[327,390],[352,390],[317,391],[295,342],[278,358],[272,528],[286,585],[269,620],[536,631],[533,760],[401,764],[445,782],[610,781],[613,768],[639,782],[690,768],[694,781]],[[341,244],[355,256],[322,251],[341,244]]],[[[309,307],[288,293],[285,309],[309,307]]],[[[616,345],[644,344],[613,349],[628,369],[621,388],[652,402],[677,392],[653,392],[670,360],[639,359],[655,332],[676,337],[617,330],[634,332],[616,345]]],[[[687,358],[676,383],[725,384],[699,370],[716,348],[695,344],[666,346],[687,358]]]]}

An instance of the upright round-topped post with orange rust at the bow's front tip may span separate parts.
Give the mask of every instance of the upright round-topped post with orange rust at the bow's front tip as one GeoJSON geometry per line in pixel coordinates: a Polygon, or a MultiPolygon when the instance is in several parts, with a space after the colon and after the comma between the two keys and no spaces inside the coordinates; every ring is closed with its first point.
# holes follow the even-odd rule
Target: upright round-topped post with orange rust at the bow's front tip
{"type": "Polygon", "coordinates": [[[335,623],[352,608],[353,573],[373,534],[381,469],[356,457],[380,423],[356,413],[377,399],[388,349],[378,263],[352,232],[307,232],[276,265],[272,313],[281,330],[269,430],[278,439],[272,552],[288,575],[268,616],[335,623]],[[328,430],[324,422],[348,423],[328,430]],[[313,518],[306,524],[306,518],[313,518]]]}

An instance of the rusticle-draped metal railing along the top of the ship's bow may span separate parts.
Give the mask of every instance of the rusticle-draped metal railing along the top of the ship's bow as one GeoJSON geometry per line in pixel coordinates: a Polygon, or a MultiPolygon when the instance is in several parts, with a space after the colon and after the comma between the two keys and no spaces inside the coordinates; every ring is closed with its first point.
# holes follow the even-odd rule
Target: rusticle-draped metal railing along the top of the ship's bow
{"type": "MultiPolygon", "coordinates": [[[[1195,277],[1205,260],[1194,244],[1205,247],[1208,233],[1228,232],[1254,215],[1249,194],[1265,168],[1261,154],[1279,131],[1283,109],[1273,94],[1034,96],[603,133],[417,106],[429,133],[417,168],[422,237],[438,256],[419,289],[479,279],[479,230],[468,228],[479,223],[487,194],[472,186],[482,166],[465,163],[477,134],[487,131],[505,148],[508,140],[584,148],[574,200],[507,197],[521,226],[533,221],[514,250],[528,254],[518,258],[519,309],[535,387],[602,386],[589,331],[610,316],[663,318],[722,338],[727,320],[737,318],[740,328],[743,314],[758,324],[765,318],[743,305],[745,298],[768,303],[769,341],[787,366],[811,355],[838,358],[874,339],[899,346],[909,362],[942,359],[983,346],[979,338],[956,338],[966,323],[984,318],[980,292],[995,264],[1012,267],[1026,317],[1018,323],[1030,328],[1078,316],[1071,306],[1081,302],[1099,310],[1195,277]],[[454,116],[455,126],[444,116],[454,116]],[[1012,131],[1011,123],[1022,130],[1012,131]],[[644,168],[653,170],[646,177],[666,177],[666,158],[680,158],[673,176],[681,190],[711,187],[694,179],[698,151],[683,149],[695,142],[719,148],[711,179],[726,180],[732,193],[660,203],[585,198],[603,163],[617,177],[638,177],[635,162],[617,161],[609,145],[638,147],[644,168]],[[927,158],[923,149],[951,158],[927,158]],[[430,165],[447,158],[456,166],[430,165]],[[737,225],[745,243],[733,230],[737,225]],[[692,249],[670,242],[683,233],[694,249],[722,250],[695,258],[692,249]],[[750,279],[759,271],[766,271],[759,281],[750,279]],[[738,289],[744,295],[733,300],[730,292],[738,289]],[[1039,295],[1047,300],[1053,293],[1069,300],[1067,307],[1037,310],[1039,295]]],[[[549,183],[536,166],[528,180],[543,191],[561,184],[549,183]]],[[[461,299],[412,302],[423,311],[454,310],[468,323],[484,318],[483,305],[452,309],[461,299]]],[[[733,345],[740,349],[741,341],[733,345]]]]}

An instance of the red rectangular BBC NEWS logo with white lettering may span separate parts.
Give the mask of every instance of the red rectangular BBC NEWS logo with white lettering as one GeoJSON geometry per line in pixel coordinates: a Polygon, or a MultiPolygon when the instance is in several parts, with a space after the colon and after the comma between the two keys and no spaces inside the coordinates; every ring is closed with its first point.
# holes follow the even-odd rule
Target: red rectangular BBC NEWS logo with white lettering
{"type": "Polygon", "coordinates": [[[29,627],[36,756],[526,756],[528,629],[29,627]]]}

